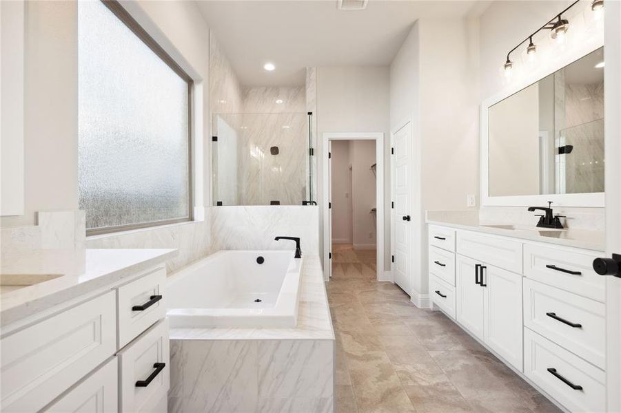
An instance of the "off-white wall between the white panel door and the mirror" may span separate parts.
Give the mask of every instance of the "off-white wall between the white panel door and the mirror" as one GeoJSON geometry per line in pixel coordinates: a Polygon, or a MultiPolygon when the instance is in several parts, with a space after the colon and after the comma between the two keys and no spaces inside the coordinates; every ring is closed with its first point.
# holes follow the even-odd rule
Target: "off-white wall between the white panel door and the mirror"
{"type": "MultiPolygon", "coordinates": [[[[391,64],[391,130],[412,126],[412,288],[427,297],[425,211],[465,209],[478,193],[478,28],[467,19],[423,19],[391,64]]],[[[421,301],[422,300],[422,301],[421,301]]]]}

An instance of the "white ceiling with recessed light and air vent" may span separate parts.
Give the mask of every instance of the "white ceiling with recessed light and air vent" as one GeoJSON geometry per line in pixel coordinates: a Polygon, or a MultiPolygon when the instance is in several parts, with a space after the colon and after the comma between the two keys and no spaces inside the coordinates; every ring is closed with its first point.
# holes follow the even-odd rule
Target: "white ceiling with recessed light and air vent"
{"type": "Polygon", "coordinates": [[[491,1],[197,1],[243,85],[302,85],[307,66],[389,65],[421,17],[474,17],[491,1]],[[266,62],[276,65],[266,72],[266,62]]]}

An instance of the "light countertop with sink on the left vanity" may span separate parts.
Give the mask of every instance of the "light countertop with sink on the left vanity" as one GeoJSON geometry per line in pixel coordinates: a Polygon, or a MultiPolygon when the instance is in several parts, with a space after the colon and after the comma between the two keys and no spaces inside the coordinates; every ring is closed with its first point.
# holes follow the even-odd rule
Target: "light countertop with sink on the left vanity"
{"type": "Polygon", "coordinates": [[[3,251],[0,326],[119,282],[176,253],[176,249],[147,248],[3,251]],[[39,283],[28,285],[32,282],[39,283]]]}

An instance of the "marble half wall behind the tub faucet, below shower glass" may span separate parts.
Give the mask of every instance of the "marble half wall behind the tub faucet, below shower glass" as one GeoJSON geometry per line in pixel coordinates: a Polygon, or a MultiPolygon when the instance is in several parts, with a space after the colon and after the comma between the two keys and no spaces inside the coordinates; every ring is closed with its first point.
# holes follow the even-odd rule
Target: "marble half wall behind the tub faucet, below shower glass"
{"type": "Polygon", "coordinates": [[[292,250],[278,235],[301,238],[303,253],[319,253],[318,207],[212,207],[212,253],[224,249],[292,250]]]}

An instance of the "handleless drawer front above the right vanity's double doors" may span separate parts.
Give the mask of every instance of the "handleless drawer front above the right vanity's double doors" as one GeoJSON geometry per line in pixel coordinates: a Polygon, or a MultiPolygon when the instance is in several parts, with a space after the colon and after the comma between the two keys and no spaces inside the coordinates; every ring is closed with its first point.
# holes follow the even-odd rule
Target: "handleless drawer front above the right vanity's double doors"
{"type": "Polygon", "coordinates": [[[519,241],[457,231],[457,253],[513,273],[522,273],[522,243],[519,241]]]}

